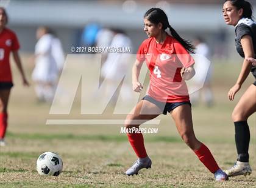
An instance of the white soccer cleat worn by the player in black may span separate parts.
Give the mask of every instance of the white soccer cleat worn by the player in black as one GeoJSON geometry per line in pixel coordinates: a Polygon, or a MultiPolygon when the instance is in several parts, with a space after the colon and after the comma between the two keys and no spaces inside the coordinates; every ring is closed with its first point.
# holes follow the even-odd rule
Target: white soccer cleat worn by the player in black
{"type": "Polygon", "coordinates": [[[234,166],[230,167],[227,170],[224,170],[224,172],[226,172],[228,176],[246,176],[252,173],[252,169],[248,162],[236,161],[234,166]]]}

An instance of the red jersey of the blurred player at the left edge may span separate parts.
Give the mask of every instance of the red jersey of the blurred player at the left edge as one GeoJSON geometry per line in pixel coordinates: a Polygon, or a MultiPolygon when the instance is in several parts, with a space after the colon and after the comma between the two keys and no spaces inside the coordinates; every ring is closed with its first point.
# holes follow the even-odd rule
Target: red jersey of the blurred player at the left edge
{"type": "Polygon", "coordinates": [[[20,49],[15,33],[5,28],[0,33],[0,82],[12,82],[10,69],[10,52],[20,49]]]}

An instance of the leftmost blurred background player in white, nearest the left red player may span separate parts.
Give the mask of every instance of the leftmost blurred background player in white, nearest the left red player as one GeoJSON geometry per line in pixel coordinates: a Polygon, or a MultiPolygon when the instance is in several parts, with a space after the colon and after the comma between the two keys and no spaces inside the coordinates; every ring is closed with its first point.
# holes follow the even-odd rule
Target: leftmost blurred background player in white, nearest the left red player
{"type": "Polygon", "coordinates": [[[32,79],[38,100],[51,102],[59,72],[63,67],[63,50],[59,39],[55,38],[47,27],[38,28],[37,39],[32,79]]]}

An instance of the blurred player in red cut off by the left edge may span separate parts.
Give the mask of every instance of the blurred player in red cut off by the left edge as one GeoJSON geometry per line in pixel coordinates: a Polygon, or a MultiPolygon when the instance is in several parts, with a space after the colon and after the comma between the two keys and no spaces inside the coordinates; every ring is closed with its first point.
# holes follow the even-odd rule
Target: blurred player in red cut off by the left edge
{"type": "Polygon", "coordinates": [[[13,86],[12,73],[10,70],[9,56],[13,53],[13,59],[21,73],[24,86],[28,86],[28,82],[24,75],[21,65],[18,49],[20,44],[12,30],[5,27],[8,22],[5,9],[0,7],[0,146],[5,146],[4,136],[7,129],[7,105],[10,96],[10,90],[13,86]]]}

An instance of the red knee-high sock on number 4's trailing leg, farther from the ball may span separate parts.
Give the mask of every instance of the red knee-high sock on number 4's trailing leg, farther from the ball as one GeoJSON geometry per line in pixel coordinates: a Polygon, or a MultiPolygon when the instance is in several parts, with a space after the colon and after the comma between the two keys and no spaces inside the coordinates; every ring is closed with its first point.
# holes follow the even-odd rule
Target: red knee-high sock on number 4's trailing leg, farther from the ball
{"type": "Polygon", "coordinates": [[[204,144],[198,149],[194,150],[194,153],[198,156],[199,160],[207,167],[210,172],[215,173],[219,170],[219,166],[216,163],[215,159],[213,158],[212,153],[204,144]]]}

